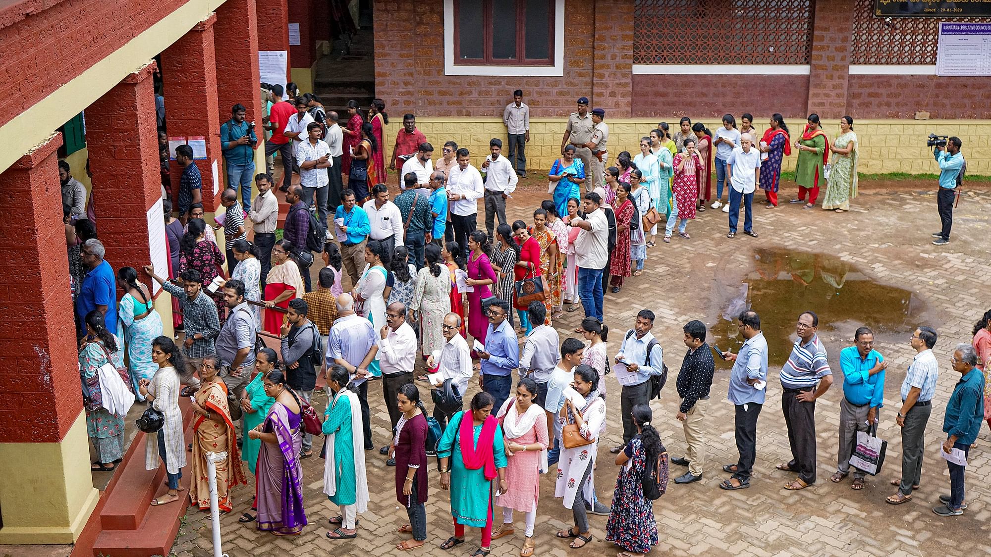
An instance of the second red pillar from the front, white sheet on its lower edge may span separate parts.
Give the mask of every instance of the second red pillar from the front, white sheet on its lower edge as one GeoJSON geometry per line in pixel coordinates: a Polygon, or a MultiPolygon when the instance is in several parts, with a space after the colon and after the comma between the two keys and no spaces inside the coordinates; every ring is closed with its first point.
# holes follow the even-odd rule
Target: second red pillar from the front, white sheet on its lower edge
{"type": "Polygon", "coordinates": [[[90,105],[100,117],[86,122],[97,229],[106,259],[115,270],[130,266],[139,274],[152,261],[151,238],[164,241],[160,234],[165,233],[161,210],[155,223],[161,228],[150,230],[148,218],[162,198],[154,69],[150,62],[125,77],[90,105]]]}

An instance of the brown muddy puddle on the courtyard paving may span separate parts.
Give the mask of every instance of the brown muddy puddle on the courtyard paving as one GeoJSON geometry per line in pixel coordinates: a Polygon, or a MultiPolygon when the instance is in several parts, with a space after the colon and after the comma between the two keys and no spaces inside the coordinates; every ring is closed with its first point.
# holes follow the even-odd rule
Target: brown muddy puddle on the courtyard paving
{"type": "MultiPolygon", "coordinates": [[[[788,360],[803,311],[819,315],[824,341],[842,339],[844,346],[862,325],[872,328],[875,338],[911,332],[915,316],[922,313],[923,304],[911,291],[879,284],[835,256],[757,249],[753,257],[753,270],[738,289],[730,286],[711,328],[712,341],[722,350],[736,352],[743,344],[735,319],[747,308],[760,315],[774,366],[788,360]]],[[[720,362],[719,367],[727,365],[720,362]]]]}

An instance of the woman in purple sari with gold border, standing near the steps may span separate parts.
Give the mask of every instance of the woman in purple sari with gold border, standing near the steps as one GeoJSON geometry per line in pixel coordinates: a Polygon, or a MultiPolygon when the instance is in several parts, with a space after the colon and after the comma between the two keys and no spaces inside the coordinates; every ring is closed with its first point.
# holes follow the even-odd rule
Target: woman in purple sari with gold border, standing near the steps
{"type": "Polygon", "coordinates": [[[269,372],[264,385],[265,392],[275,398],[275,404],[262,425],[248,432],[248,437],[262,440],[255,467],[258,529],[279,536],[297,535],[306,525],[299,466],[301,407],[280,371],[269,372]]]}

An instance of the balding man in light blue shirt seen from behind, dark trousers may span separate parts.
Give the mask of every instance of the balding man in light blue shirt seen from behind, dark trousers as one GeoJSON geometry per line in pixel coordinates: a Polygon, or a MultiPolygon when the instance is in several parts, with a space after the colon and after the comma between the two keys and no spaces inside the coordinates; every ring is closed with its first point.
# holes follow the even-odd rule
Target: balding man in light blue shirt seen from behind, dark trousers
{"type": "MultiPolygon", "coordinates": [[[[365,450],[372,444],[372,412],[369,409],[368,380],[373,379],[368,366],[379,352],[379,336],[372,321],[355,313],[355,298],[349,293],[337,296],[337,319],[327,336],[327,353],[324,361],[328,374],[334,364],[344,366],[355,377],[350,386],[358,392],[362,407],[362,425],[365,434],[365,450]]],[[[357,432],[356,432],[357,433],[357,432]]]]}

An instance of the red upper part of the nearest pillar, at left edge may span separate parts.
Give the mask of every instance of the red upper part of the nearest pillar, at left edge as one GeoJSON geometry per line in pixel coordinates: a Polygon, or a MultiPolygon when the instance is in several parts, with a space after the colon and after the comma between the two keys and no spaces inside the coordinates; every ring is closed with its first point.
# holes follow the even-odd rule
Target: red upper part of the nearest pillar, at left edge
{"type": "Polygon", "coordinates": [[[82,411],[58,208],[61,142],[53,135],[0,173],[0,367],[11,371],[0,374],[0,443],[57,443],[82,411]]]}

